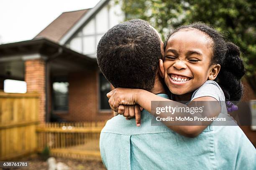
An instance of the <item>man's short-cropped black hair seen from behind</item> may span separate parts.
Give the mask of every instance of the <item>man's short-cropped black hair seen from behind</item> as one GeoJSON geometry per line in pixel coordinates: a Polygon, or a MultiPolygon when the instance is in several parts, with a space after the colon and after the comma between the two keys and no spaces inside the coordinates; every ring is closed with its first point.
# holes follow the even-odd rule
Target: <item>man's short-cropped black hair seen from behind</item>
{"type": "Polygon", "coordinates": [[[100,70],[114,87],[151,91],[161,57],[158,33],[140,19],[115,25],[97,46],[100,70]]]}

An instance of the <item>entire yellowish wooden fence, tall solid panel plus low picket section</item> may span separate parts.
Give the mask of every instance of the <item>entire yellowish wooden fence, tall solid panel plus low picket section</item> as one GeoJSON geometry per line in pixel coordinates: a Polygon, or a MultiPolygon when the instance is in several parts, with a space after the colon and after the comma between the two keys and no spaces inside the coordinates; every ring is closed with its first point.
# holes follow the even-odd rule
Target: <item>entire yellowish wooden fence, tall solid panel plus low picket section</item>
{"type": "Polygon", "coordinates": [[[100,159],[101,122],[39,125],[36,93],[0,92],[0,161],[14,160],[49,147],[53,156],[100,159]]]}

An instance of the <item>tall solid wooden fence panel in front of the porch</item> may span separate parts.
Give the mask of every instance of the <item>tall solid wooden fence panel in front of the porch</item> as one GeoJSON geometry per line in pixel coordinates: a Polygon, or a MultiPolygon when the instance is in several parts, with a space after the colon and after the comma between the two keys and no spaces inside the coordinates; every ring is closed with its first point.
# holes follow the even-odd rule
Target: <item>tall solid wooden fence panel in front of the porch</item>
{"type": "Polygon", "coordinates": [[[38,95],[0,92],[0,160],[36,150],[38,95]]]}

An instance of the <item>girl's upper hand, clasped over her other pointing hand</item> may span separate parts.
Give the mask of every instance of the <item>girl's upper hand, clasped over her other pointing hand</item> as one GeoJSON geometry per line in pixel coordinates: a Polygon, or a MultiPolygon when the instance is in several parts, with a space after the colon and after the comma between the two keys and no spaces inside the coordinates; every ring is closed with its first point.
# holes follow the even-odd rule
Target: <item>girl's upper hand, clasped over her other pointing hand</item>
{"type": "Polygon", "coordinates": [[[118,112],[119,105],[135,105],[138,89],[116,88],[107,94],[112,110],[118,112]]]}

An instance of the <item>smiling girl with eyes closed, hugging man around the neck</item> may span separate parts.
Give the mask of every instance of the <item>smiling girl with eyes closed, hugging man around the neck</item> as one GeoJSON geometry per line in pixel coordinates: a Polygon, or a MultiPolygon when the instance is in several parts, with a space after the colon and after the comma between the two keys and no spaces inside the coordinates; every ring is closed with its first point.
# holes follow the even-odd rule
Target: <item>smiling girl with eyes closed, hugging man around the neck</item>
{"type": "MultiPolygon", "coordinates": [[[[227,112],[221,101],[241,99],[241,77],[245,69],[240,50],[233,43],[225,42],[214,28],[203,23],[181,26],[167,36],[164,62],[159,61],[159,69],[172,93],[171,100],[189,101],[189,107],[191,101],[219,101],[218,105],[207,105],[206,112],[210,113],[208,117],[217,117],[220,112],[227,112]]],[[[119,105],[138,104],[154,114],[151,101],[170,101],[146,90],[128,88],[116,88],[108,93],[108,97],[110,107],[120,114],[125,112],[126,117],[129,114],[120,108],[118,110],[119,105]]],[[[187,107],[179,102],[173,102],[171,107],[176,106],[187,107]]],[[[136,120],[137,126],[140,125],[139,119],[136,120]]],[[[204,126],[167,126],[181,135],[195,137],[210,123],[204,126]]]]}

